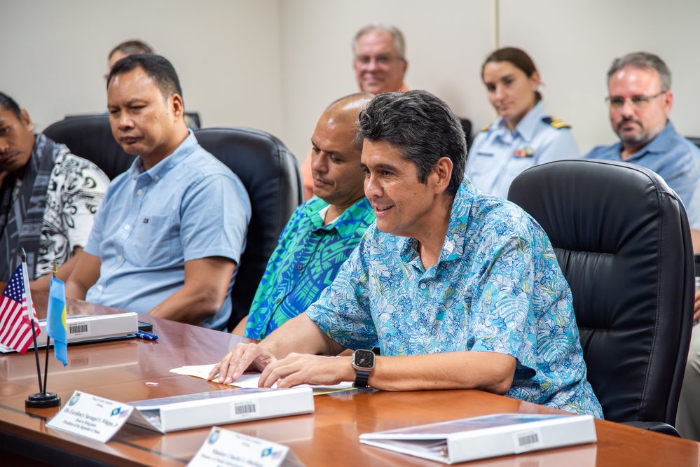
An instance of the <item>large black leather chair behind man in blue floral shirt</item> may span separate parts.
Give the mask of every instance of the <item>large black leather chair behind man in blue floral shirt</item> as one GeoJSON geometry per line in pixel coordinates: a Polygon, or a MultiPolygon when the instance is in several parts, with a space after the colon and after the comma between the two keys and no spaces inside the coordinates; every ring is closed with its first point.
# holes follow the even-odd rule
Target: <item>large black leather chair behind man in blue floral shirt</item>
{"type": "Polygon", "coordinates": [[[678,435],[694,302],[678,195],[643,167],[580,159],[527,169],[508,199],[551,239],[605,418],[678,435]]]}

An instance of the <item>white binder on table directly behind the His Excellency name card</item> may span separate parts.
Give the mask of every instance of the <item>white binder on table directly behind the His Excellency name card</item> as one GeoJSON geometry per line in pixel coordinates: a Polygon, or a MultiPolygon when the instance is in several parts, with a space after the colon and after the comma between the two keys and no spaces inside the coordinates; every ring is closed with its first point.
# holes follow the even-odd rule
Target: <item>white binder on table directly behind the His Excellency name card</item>
{"type": "Polygon", "coordinates": [[[129,423],[160,433],[313,412],[313,389],[236,388],[130,402],[129,423]]]}

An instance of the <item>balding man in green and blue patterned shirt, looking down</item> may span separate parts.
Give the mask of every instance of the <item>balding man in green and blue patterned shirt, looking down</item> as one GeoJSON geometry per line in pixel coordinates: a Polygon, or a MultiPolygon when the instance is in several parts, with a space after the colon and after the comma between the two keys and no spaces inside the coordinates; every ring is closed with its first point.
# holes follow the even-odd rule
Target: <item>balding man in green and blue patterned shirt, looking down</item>
{"type": "Polygon", "coordinates": [[[357,93],[324,111],[311,137],[315,197],[294,211],[268,261],[247,318],[233,333],[263,339],[303,313],[329,286],[374,212],[364,197],[357,115],[373,96],[357,93]]]}

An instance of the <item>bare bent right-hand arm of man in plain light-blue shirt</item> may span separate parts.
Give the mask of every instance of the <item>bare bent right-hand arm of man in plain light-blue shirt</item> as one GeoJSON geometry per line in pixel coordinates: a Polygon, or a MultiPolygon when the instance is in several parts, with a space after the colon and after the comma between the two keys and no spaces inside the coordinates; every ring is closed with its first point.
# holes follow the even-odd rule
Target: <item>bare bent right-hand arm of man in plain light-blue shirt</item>
{"type": "Polygon", "coordinates": [[[202,323],[224,305],[234,268],[235,262],[222,256],[186,261],[184,286],[149,314],[181,323],[202,323]]]}

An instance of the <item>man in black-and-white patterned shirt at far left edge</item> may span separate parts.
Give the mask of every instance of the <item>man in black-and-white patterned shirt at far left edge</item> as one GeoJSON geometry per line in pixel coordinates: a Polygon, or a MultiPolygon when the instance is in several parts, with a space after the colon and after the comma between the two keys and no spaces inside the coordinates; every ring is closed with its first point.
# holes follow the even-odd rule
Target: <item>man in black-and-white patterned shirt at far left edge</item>
{"type": "Polygon", "coordinates": [[[48,291],[54,261],[67,279],[108,185],[95,164],[34,134],[27,110],[0,92],[0,281],[10,279],[22,249],[29,278],[38,279],[32,288],[48,291]]]}

